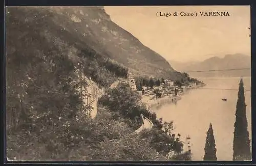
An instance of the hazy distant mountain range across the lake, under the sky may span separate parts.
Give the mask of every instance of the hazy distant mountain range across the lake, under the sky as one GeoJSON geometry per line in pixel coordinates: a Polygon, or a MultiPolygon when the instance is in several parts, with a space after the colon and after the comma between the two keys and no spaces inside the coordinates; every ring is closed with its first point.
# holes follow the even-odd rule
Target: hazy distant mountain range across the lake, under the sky
{"type": "Polygon", "coordinates": [[[224,58],[211,57],[202,62],[176,62],[169,61],[170,65],[181,72],[187,72],[193,77],[237,77],[250,76],[251,70],[230,70],[244,69],[251,67],[251,57],[244,54],[227,54],[224,58]],[[226,70],[227,69],[227,70],[226,70]],[[226,70],[226,71],[208,71],[208,70],[226,70]],[[201,71],[201,72],[189,72],[201,71]]]}

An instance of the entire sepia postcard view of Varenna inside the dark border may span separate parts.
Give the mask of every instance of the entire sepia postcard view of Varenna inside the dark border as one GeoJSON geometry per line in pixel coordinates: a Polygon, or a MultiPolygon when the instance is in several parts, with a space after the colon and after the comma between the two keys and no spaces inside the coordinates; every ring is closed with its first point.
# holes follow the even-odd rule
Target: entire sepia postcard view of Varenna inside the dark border
{"type": "Polygon", "coordinates": [[[7,6],[8,161],[251,161],[250,6],[7,6]]]}

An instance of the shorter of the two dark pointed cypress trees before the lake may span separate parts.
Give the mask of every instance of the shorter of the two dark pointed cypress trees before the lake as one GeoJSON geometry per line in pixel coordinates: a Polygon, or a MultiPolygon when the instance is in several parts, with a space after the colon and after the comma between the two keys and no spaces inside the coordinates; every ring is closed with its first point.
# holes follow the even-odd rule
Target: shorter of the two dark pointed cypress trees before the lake
{"type": "Polygon", "coordinates": [[[214,130],[212,130],[212,125],[210,123],[204,147],[204,160],[217,160],[216,151],[217,150],[215,148],[214,130]]]}

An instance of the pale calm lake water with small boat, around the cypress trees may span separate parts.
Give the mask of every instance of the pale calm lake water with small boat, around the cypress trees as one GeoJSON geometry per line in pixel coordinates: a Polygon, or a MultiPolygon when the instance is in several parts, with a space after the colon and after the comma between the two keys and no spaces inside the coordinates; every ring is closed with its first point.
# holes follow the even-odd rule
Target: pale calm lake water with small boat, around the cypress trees
{"type": "MultiPolygon", "coordinates": [[[[204,81],[206,86],[189,90],[177,104],[162,105],[154,112],[164,121],[173,120],[176,127],[174,133],[180,133],[183,140],[187,135],[191,137],[193,160],[203,160],[206,132],[212,123],[218,160],[232,160],[240,77],[198,79],[204,81]],[[227,98],[227,101],[222,101],[222,98],[227,98]]],[[[248,90],[245,91],[245,102],[251,139],[251,78],[244,77],[243,81],[244,89],[248,90]]]]}

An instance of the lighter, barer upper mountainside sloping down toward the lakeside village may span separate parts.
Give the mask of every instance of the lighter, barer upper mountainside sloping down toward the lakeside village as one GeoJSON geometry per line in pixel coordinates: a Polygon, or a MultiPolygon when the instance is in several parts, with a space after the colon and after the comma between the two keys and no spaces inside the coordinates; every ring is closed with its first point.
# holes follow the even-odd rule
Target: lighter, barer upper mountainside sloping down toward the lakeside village
{"type": "MultiPolygon", "coordinates": [[[[49,44],[73,47],[69,50],[72,58],[77,51],[90,48],[134,74],[166,77],[174,71],[158,53],[112,22],[103,7],[10,7],[12,13],[19,13],[19,21],[31,31],[36,29],[40,37],[54,38],[49,44]]],[[[30,32],[25,31],[23,37],[30,32]]]]}

